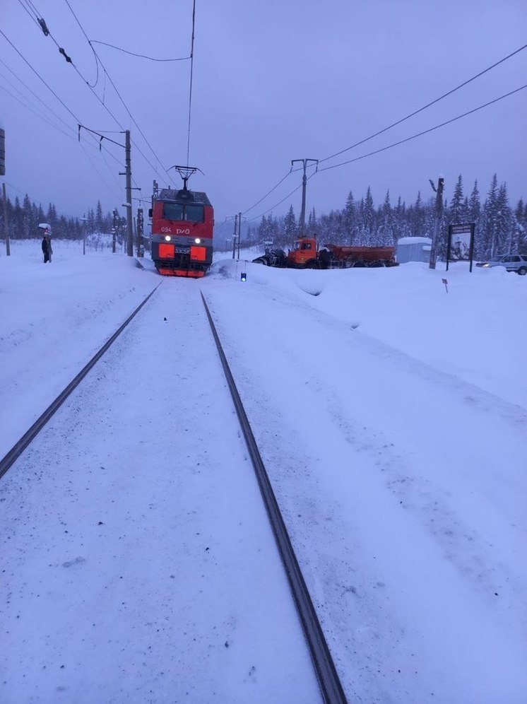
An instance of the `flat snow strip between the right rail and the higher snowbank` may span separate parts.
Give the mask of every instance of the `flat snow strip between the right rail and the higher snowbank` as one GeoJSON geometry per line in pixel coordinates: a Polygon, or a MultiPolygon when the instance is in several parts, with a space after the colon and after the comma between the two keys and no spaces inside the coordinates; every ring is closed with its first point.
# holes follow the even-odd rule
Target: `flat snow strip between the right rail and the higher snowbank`
{"type": "Polygon", "coordinates": [[[313,295],[212,284],[348,698],[520,704],[525,411],[319,312],[313,295]]]}

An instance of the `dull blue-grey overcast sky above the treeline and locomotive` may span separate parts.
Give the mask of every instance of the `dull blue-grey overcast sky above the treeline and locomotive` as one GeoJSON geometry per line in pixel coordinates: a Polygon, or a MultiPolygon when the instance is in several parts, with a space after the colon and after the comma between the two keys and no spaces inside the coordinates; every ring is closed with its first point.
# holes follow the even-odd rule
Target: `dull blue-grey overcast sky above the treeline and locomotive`
{"type": "MultiPolygon", "coordinates": [[[[154,178],[171,182],[165,170],[186,164],[190,62],[154,62],[93,44],[108,76],[98,64],[90,89],[85,81],[93,85],[97,69],[83,30],[91,41],[149,57],[188,57],[191,13],[191,0],[2,0],[0,29],[24,57],[0,35],[0,126],[12,199],[28,192],[45,209],[53,201],[69,216],[82,216],[97,199],[105,211],[124,211],[124,176],[118,175],[124,149],[103,141],[100,153],[98,138],[86,131],[79,144],[78,122],[116,131],[105,134],[119,143],[119,130],[131,129],[134,184],[143,198],[150,198],[154,178]],[[42,33],[31,7],[52,37],[42,33]]],[[[428,180],[439,174],[449,199],[460,173],[466,194],[477,178],[485,196],[497,172],[515,206],[527,196],[527,89],[383,153],[321,169],[523,86],[527,49],[398,127],[327,159],[522,47],[526,25],[525,0],[196,0],[189,164],[203,175],[191,187],[208,193],[217,225],[238,211],[256,224],[268,209],[280,215],[290,204],[298,216],[301,191],[288,194],[300,186],[301,172],[251,206],[285,177],[292,159],[302,158],[321,160],[307,187],[307,210],[319,214],[342,208],[350,190],[360,199],[368,185],[376,205],[388,189],[392,204],[398,196],[409,204],[418,191],[428,199],[428,180]]]]}

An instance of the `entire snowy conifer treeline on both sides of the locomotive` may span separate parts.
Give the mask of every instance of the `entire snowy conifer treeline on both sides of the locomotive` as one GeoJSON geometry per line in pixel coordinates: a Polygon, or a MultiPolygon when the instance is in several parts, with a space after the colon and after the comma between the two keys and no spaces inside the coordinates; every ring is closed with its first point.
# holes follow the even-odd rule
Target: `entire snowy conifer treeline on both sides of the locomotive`
{"type": "MultiPolygon", "coordinates": [[[[111,233],[114,224],[118,235],[124,234],[126,218],[114,213],[102,212],[100,201],[90,209],[86,220],[66,218],[58,215],[54,204],[47,211],[35,205],[26,194],[22,203],[16,197],[14,203],[7,199],[9,236],[13,239],[40,237],[39,223],[48,223],[52,237],[58,239],[81,239],[83,232],[111,233]],[[83,230],[85,227],[85,230],[83,230]]],[[[321,244],[348,245],[394,245],[401,237],[432,237],[435,227],[435,199],[422,200],[420,192],[415,203],[407,206],[399,197],[391,204],[390,193],[384,203],[375,206],[372,191],[368,187],[360,200],[350,192],[342,210],[333,210],[321,216],[312,209],[306,223],[306,234],[316,234],[321,244]]],[[[480,197],[476,181],[470,194],[463,188],[463,178],[458,177],[451,201],[444,201],[442,223],[439,228],[437,256],[446,256],[448,226],[454,223],[475,223],[475,259],[486,259],[494,254],[522,252],[527,254],[527,204],[521,199],[516,206],[509,204],[507,184],[499,184],[497,175],[492,177],[485,199],[480,197]]],[[[4,218],[0,217],[0,237],[5,239],[4,218]]],[[[300,234],[299,223],[292,206],[285,216],[262,216],[256,226],[249,226],[245,245],[273,245],[290,247],[300,234]]]]}

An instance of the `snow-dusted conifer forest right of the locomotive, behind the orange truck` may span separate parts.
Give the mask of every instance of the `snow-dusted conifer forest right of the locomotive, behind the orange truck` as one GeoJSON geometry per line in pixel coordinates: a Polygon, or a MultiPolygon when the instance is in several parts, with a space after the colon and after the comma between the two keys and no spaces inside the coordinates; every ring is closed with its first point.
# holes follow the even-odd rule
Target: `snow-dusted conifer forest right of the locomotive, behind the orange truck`
{"type": "MultiPolygon", "coordinates": [[[[435,199],[422,201],[418,192],[415,203],[407,206],[401,198],[396,205],[386,193],[384,203],[374,205],[371,189],[356,200],[348,194],[342,210],[333,210],[327,215],[317,216],[313,209],[309,213],[305,230],[307,235],[316,234],[320,244],[335,245],[395,245],[401,237],[432,237],[436,220],[435,199]]],[[[523,199],[514,208],[509,205],[507,184],[498,184],[497,175],[492,177],[485,200],[480,197],[476,181],[470,194],[465,194],[463,177],[458,177],[451,201],[444,201],[442,222],[439,228],[437,256],[446,257],[448,226],[455,223],[475,223],[474,257],[486,259],[495,254],[522,252],[527,254],[527,204],[523,199]]],[[[300,234],[299,223],[293,207],[285,216],[271,213],[262,216],[256,227],[249,227],[249,244],[290,247],[300,234]]]]}

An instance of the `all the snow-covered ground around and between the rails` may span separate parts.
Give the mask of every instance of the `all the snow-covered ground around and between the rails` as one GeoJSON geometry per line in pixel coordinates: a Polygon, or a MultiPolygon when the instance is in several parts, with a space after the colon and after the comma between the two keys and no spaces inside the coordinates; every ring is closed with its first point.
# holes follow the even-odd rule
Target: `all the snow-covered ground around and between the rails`
{"type": "Polygon", "coordinates": [[[2,456],[161,286],[0,481],[0,700],[316,700],[202,291],[348,699],[525,703],[527,277],[4,251],[2,456]]]}

